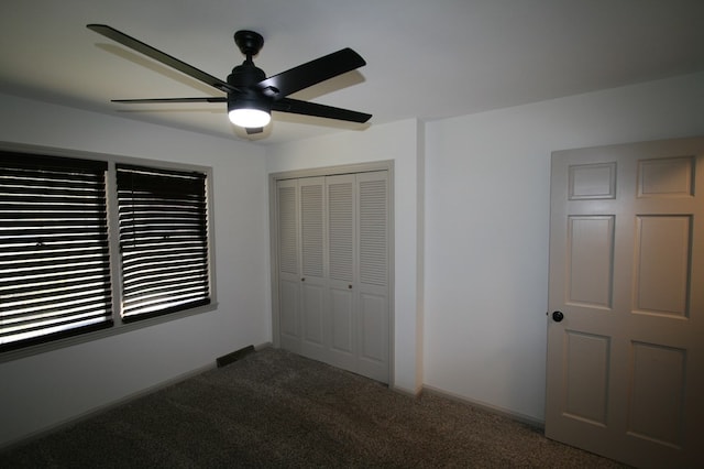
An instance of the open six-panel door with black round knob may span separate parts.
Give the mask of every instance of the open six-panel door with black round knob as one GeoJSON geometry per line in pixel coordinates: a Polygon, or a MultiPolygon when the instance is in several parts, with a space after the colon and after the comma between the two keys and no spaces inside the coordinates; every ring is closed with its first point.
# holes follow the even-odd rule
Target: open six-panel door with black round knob
{"type": "Polygon", "coordinates": [[[704,465],[704,139],[552,155],[546,435],[704,465]]]}

